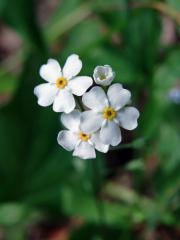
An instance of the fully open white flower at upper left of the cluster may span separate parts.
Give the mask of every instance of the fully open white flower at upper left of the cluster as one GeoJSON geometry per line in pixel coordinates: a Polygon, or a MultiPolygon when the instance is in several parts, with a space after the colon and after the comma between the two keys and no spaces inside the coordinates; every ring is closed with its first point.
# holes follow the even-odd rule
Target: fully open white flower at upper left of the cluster
{"type": "Polygon", "coordinates": [[[55,112],[71,112],[75,108],[73,94],[82,96],[93,83],[91,77],[75,77],[81,68],[82,62],[76,54],[67,58],[62,70],[56,60],[49,59],[40,68],[40,76],[48,83],[40,84],[34,89],[38,104],[46,107],[53,103],[55,112]]]}

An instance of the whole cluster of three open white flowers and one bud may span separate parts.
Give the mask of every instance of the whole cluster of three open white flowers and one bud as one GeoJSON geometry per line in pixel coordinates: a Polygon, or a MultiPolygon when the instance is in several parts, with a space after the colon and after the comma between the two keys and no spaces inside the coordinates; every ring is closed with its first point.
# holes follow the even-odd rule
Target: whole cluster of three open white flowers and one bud
{"type": "Polygon", "coordinates": [[[77,76],[81,68],[82,62],[76,54],[67,58],[62,69],[56,60],[49,59],[40,68],[40,76],[47,83],[36,86],[34,94],[40,106],[53,104],[55,112],[62,112],[60,120],[66,130],[59,132],[58,143],[73,151],[73,156],[91,159],[96,157],[95,150],[106,153],[110,146],[121,142],[120,127],[135,129],[139,112],[126,106],[131,100],[127,89],[119,83],[111,85],[115,73],[109,65],[94,69],[96,86],[88,92],[93,79],[77,76]],[[107,88],[108,85],[111,86],[107,88]]]}

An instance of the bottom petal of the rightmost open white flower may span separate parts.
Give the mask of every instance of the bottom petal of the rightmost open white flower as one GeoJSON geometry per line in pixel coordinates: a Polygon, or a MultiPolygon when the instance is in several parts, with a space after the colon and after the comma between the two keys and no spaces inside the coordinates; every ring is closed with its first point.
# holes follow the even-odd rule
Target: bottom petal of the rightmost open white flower
{"type": "Polygon", "coordinates": [[[121,131],[117,123],[107,121],[100,130],[100,139],[104,144],[116,146],[121,142],[121,131]]]}

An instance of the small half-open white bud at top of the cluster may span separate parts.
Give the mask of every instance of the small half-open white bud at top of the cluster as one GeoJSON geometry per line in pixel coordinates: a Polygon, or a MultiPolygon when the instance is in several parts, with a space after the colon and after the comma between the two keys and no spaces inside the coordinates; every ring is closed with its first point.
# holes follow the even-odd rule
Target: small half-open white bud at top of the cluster
{"type": "Polygon", "coordinates": [[[98,85],[108,86],[115,77],[115,73],[109,65],[97,66],[94,69],[94,81],[98,85]]]}

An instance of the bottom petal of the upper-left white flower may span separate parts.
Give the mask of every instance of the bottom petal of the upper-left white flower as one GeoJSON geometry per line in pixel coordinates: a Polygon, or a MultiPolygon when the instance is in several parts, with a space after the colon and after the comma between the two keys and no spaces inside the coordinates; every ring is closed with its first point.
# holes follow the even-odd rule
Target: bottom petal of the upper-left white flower
{"type": "Polygon", "coordinates": [[[75,100],[71,92],[67,89],[61,89],[56,96],[53,104],[55,112],[70,113],[75,108],[75,100]]]}

